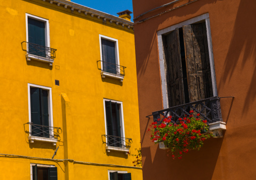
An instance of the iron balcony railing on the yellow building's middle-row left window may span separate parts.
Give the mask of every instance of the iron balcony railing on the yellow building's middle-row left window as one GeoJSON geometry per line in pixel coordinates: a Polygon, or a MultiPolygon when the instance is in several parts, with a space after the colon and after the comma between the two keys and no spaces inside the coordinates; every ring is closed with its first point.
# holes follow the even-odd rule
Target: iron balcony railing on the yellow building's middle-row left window
{"type": "Polygon", "coordinates": [[[25,124],[30,125],[31,136],[57,139],[59,134],[62,133],[62,130],[60,127],[38,125],[38,124],[33,124],[33,122],[27,122],[25,124]]]}

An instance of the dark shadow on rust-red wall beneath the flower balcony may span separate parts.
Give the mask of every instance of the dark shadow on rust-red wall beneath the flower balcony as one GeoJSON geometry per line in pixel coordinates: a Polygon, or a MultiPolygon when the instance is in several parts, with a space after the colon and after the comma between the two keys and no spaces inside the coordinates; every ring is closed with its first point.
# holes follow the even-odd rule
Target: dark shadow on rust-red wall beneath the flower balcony
{"type": "Polygon", "coordinates": [[[159,177],[179,180],[187,180],[188,177],[190,180],[212,179],[222,142],[223,138],[210,138],[205,141],[201,150],[188,151],[187,154],[183,154],[182,159],[175,158],[174,160],[168,149],[159,149],[158,144],[155,144],[157,149],[152,160],[151,151],[153,150],[150,147],[144,147],[142,148],[143,178],[149,180],[160,179],[159,177]],[[152,167],[155,168],[152,169],[152,167]]]}

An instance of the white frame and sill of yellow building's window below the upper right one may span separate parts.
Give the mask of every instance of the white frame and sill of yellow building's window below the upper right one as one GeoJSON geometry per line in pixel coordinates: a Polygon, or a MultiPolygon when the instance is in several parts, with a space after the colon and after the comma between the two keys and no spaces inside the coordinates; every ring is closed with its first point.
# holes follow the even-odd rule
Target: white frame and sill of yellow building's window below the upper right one
{"type": "MultiPolygon", "coordinates": [[[[107,118],[106,118],[106,107],[105,107],[105,102],[106,101],[111,101],[113,103],[116,102],[117,104],[120,105],[120,111],[121,112],[119,112],[119,115],[120,115],[121,137],[125,138],[122,102],[104,98],[103,99],[103,106],[104,106],[105,134],[107,135],[107,118]]],[[[127,148],[112,147],[112,146],[108,146],[107,144],[108,143],[107,143],[107,137],[106,137],[106,149],[108,150],[108,152],[110,152],[110,150],[118,150],[118,151],[129,152],[129,149],[127,149],[127,148]]],[[[122,144],[125,145],[125,142],[122,142],[122,144]]]]}

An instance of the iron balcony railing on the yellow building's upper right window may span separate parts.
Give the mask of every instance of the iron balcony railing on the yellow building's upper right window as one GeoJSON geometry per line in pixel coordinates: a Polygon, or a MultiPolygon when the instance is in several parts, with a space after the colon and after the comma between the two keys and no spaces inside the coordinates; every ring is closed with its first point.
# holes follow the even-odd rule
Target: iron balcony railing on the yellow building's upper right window
{"type": "Polygon", "coordinates": [[[105,61],[97,61],[98,62],[102,62],[102,71],[103,72],[107,72],[107,73],[111,73],[111,74],[115,74],[118,76],[124,76],[124,69],[126,67],[124,66],[120,66],[118,64],[113,64],[113,63],[108,63],[105,61]]]}

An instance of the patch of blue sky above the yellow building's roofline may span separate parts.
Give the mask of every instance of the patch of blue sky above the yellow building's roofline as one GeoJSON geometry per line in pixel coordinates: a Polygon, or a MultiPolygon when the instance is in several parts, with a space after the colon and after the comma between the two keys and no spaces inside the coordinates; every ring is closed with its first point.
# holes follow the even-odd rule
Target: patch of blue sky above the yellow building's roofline
{"type": "MultiPolygon", "coordinates": [[[[98,1],[88,1],[88,0],[71,0],[71,2],[108,13],[110,15],[117,16],[116,13],[119,13],[124,10],[130,10],[133,12],[133,2],[132,0],[98,0],[98,1]]],[[[134,16],[131,14],[133,20],[134,16]]]]}

